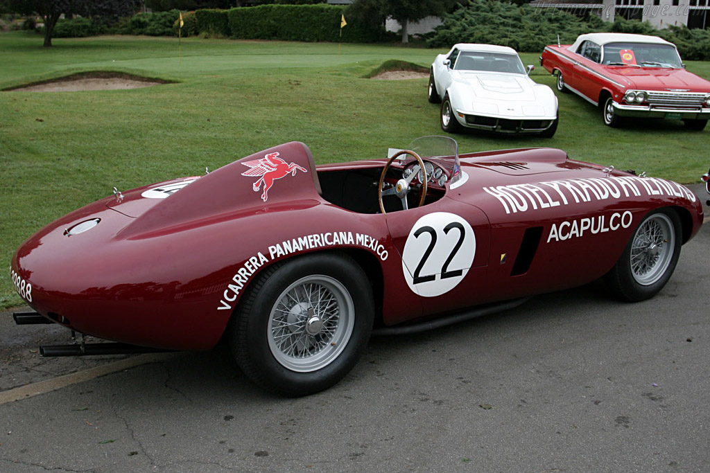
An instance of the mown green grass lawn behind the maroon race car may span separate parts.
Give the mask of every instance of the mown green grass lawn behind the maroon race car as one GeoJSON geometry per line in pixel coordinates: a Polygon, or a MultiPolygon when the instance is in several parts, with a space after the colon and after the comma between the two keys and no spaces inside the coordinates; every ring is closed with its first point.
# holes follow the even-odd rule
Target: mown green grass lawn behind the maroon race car
{"type": "MultiPolygon", "coordinates": [[[[173,177],[202,174],[278,143],[306,143],[317,162],[383,157],[442,134],[426,79],[364,79],[386,60],[425,67],[442,50],[395,45],[100,37],[53,40],[0,34],[0,89],[72,72],[111,70],[175,81],[146,89],[0,92],[0,307],[21,304],[9,260],[41,226],[79,206],[173,177]]],[[[535,54],[525,64],[537,65],[535,54]]],[[[710,64],[688,62],[710,78],[710,64]]],[[[554,85],[541,67],[537,82],[554,85]]],[[[697,182],[710,130],[643,121],[612,129],[601,112],[558,94],[555,138],[465,133],[459,150],[552,146],[571,157],[697,182]]]]}

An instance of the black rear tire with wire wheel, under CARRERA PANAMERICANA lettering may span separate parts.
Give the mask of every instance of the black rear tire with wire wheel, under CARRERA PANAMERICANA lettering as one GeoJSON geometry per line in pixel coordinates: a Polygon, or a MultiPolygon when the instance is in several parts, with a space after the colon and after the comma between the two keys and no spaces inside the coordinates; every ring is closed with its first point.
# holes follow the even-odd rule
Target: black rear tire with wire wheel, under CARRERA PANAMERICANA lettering
{"type": "Polygon", "coordinates": [[[364,352],[374,318],[372,288],[350,257],[314,253],[268,267],[229,323],[237,364],[282,396],[339,382],[364,352]]]}

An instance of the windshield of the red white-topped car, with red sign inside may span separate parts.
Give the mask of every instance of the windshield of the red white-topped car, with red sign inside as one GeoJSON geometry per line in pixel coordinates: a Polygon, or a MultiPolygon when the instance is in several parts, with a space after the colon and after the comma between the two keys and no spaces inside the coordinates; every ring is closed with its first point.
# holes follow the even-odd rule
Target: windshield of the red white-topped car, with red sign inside
{"type": "Polygon", "coordinates": [[[603,64],[638,67],[683,67],[672,45],[609,43],[604,45],[603,64]]]}

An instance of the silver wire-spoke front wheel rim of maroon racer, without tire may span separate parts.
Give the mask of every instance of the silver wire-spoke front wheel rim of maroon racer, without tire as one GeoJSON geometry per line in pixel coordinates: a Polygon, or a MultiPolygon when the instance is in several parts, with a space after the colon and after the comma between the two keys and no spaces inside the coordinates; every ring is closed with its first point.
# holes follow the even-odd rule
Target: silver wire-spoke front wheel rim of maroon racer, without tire
{"type": "Polygon", "coordinates": [[[657,282],[670,263],[675,245],[673,223],[663,213],[648,218],[636,230],[631,244],[631,272],[638,284],[657,282]]]}

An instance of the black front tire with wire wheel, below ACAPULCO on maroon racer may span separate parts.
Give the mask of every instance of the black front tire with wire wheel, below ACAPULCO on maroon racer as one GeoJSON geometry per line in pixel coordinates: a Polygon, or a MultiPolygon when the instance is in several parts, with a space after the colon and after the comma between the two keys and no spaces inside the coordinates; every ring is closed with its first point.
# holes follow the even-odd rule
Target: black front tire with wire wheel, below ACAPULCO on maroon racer
{"type": "Polygon", "coordinates": [[[648,213],[604,280],[623,301],[644,301],[658,294],[678,263],[682,245],[680,218],[670,208],[648,213]]]}

